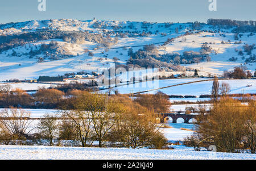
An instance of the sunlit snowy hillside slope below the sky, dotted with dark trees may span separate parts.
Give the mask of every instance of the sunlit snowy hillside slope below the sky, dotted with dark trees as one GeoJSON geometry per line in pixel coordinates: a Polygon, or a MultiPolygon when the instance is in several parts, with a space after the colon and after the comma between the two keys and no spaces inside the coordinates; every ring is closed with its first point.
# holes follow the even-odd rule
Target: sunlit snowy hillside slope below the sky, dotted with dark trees
{"type": "MultiPolygon", "coordinates": [[[[31,20],[0,24],[2,40],[5,40],[4,37],[20,34],[32,32],[48,32],[49,34],[51,31],[61,34],[63,32],[65,34],[66,31],[68,34],[88,32],[88,34],[96,36],[96,39],[102,39],[99,41],[101,43],[93,42],[91,39],[88,39],[90,41],[78,41],[78,43],[67,42],[66,39],[64,40],[65,37],[61,38],[61,36],[58,39],[41,37],[39,41],[25,42],[17,47],[0,51],[0,81],[13,78],[22,80],[43,75],[57,76],[82,70],[102,72],[102,70],[108,69],[110,64],[114,64],[113,57],[117,57],[117,62],[120,64],[126,64],[130,58],[127,54],[129,48],[136,52],[138,49],[142,49],[143,45],[148,44],[155,44],[160,55],[175,53],[183,55],[186,51],[199,53],[201,46],[207,43],[212,48],[212,51],[209,52],[211,58],[209,62],[183,64],[180,61],[181,65],[185,68],[199,69],[206,76],[209,73],[221,75],[224,70],[232,70],[234,66],[241,64],[245,64],[253,73],[256,68],[255,59],[254,61],[247,60],[247,62],[246,59],[253,58],[253,56],[255,58],[255,47],[252,49],[251,55],[247,55],[243,52],[243,46],[245,44],[253,45],[256,35],[245,32],[238,36],[238,40],[234,40],[235,34],[231,32],[232,30],[233,28],[220,29],[208,24],[201,24],[200,28],[195,29],[192,23],[80,21],[75,19],[31,20]],[[164,44],[170,39],[173,41],[164,44]],[[237,42],[240,40],[241,42],[238,44],[237,42]],[[56,48],[42,48],[52,48],[52,46],[47,47],[51,43],[56,44],[56,48]],[[243,55],[238,55],[240,51],[243,52],[243,55]],[[92,52],[93,55],[89,55],[89,52],[92,52]],[[236,60],[230,61],[232,57],[236,60]]],[[[10,44],[6,45],[11,47],[10,44]]]]}

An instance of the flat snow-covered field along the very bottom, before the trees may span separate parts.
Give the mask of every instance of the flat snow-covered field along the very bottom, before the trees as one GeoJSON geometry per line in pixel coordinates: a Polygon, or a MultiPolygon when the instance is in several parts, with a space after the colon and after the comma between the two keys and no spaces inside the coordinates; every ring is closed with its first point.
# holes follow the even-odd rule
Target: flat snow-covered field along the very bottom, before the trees
{"type": "Polygon", "coordinates": [[[0,159],[22,160],[255,160],[256,155],[192,150],[0,146],[0,159]]]}

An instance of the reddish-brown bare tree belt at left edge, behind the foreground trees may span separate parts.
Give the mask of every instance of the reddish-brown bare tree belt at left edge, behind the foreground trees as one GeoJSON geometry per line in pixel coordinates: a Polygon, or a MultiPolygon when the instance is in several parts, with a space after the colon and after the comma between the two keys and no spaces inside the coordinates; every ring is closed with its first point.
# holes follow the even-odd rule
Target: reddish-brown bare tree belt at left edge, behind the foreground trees
{"type": "Polygon", "coordinates": [[[97,86],[97,82],[92,81],[86,84],[70,83],[57,86],[56,89],[39,89],[35,94],[28,94],[21,89],[11,89],[9,84],[0,85],[0,107],[9,106],[22,107],[26,109],[60,109],[65,97],[72,95],[73,90],[88,90],[97,86]]]}

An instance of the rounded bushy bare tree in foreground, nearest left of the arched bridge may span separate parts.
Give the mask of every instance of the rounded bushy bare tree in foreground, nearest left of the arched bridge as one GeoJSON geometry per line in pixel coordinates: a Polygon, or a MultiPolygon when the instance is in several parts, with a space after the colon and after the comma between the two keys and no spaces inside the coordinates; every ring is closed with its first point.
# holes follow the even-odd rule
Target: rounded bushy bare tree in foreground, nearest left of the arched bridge
{"type": "Polygon", "coordinates": [[[166,144],[155,117],[151,114],[139,115],[135,110],[122,115],[117,132],[118,141],[128,148],[161,149],[166,144]]]}

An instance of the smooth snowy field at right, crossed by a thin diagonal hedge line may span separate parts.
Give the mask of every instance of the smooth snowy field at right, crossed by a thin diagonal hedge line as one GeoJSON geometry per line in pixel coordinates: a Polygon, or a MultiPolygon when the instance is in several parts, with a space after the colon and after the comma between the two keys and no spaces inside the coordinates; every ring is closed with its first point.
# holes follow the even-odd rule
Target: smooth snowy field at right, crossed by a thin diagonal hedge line
{"type": "MultiPolygon", "coordinates": [[[[155,81],[147,81],[147,82],[139,82],[131,85],[124,85],[115,87],[112,91],[118,90],[120,94],[129,94],[129,93],[137,93],[140,91],[148,91],[147,93],[155,94],[157,91],[162,91],[167,95],[195,95],[199,97],[204,94],[211,94],[212,91],[212,82],[213,81],[203,81],[209,80],[205,78],[180,78],[180,79],[170,79],[170,80],[155,80],[155,81]],[[167,87],[164,89],[155,90],[161,87],[172,86],[176,84],[183,84],[194,81],[203,81],[203,82],[195,82],[191,84],[178,85],[174,87],[167,87]]],[[[246,93],[256,93],[256,79],[245,79],[245,80],[220,80],[220,85],[222,82],[226,82],[230,85],[231,91],[229,94],[240,94],[242,90],[246,93]],[[246,87],[246,85],[251,85],[250,87],[246,87]]],[[[104,90],[108,91],[108,90],[104,90]]],[[[181,98],[180,101],[186,101],[186,99],[181,98]]],[[[197,101],[197,99],[194,99],[197,101]]]]}

